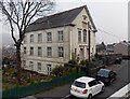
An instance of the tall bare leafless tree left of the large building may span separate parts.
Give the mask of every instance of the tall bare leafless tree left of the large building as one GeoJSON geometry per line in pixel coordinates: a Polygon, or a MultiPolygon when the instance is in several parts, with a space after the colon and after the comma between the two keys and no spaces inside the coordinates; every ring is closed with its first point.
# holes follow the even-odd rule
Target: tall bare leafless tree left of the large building
{"type": "Polygon", "coordinates": [[[0,11],[11,28],[11,36],[16,47],[17,80],[21,84],[21,45],[26,29],[34,18],[44,16],[54,6],[52,0],[5,0],[0,1],[0,11]],[[18,38],[15,37],[17,32],[18,38]]]}

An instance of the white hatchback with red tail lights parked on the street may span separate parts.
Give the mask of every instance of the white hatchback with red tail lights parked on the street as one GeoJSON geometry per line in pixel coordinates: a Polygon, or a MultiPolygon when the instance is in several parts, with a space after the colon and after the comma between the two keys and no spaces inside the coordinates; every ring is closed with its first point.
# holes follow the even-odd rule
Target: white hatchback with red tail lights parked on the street
{"type": "Polygon", "coordinates": [[[82,76],[74,81],[70,86],[70,95],[79,98],[91,99],[92,96],[103,93],[105,86],[93,77],[82,76]]]}

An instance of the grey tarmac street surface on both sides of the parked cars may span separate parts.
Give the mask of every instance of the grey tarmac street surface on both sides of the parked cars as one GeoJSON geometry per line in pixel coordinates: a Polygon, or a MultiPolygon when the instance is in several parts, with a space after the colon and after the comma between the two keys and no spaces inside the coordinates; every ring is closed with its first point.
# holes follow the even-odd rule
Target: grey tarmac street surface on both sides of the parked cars
{"type": "MultiPolygon", "coordinates": [[[[113,95],[114,93],[116,93],[117,90],[119,90],[130,82],[129,81],[130,79],[128,77],[128,73],[129,73],[128,70],[130,70],[128,66],[130,63],[128,65],[128,62],[130,61],[123,60],[121,65],[114,65],[114,66],[107,67],[108,69],[117,72],[117,80],[112,85],[106,86],[105,93],[96,95],[95,97],[93,97],[93,99],[100,99],[100,98],[106,99],[107,97],[109,97],[110,95],[113,95]]],[[[64,86],[60,86],[51,90],[41,91],[34,96],[37,98],[50,97],[49,99],[52,99],[51,97],[60,97],[63,99],[74,99],[69,95],[69,88],[70,88],[70,84],[66,84],[64,86]],[[67,96],[70,96],[70,97],[67,97],[67,96]]],[[[79,98],[75,98],[75,99],[79,99],[79,98]]]]}

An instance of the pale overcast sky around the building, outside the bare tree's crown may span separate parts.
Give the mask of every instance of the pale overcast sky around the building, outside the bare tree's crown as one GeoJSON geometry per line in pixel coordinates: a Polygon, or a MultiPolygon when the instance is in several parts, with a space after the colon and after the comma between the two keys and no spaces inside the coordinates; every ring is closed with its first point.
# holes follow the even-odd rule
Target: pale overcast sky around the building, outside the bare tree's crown
{"type": "MultiPolygon", "coordinates": [[[[81,5],[88,6],[98,28],[96,43],[109,44],[128,40],[128,0],[55,0],[54,13],[81,5]]],[[[11,43],[9,27],[0,26],[2,43],[11,43]]]]}

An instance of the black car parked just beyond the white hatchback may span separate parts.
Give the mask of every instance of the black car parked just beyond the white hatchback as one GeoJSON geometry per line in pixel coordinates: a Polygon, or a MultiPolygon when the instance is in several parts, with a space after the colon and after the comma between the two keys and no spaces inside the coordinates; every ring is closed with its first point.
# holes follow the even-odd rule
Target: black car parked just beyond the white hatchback
{"type": "Polygon", "coordinates": [[[116,80],[116,72],[108,69],[100,69],[95,79],[102,81],[105,85],[112,84],[116,80]]]}

